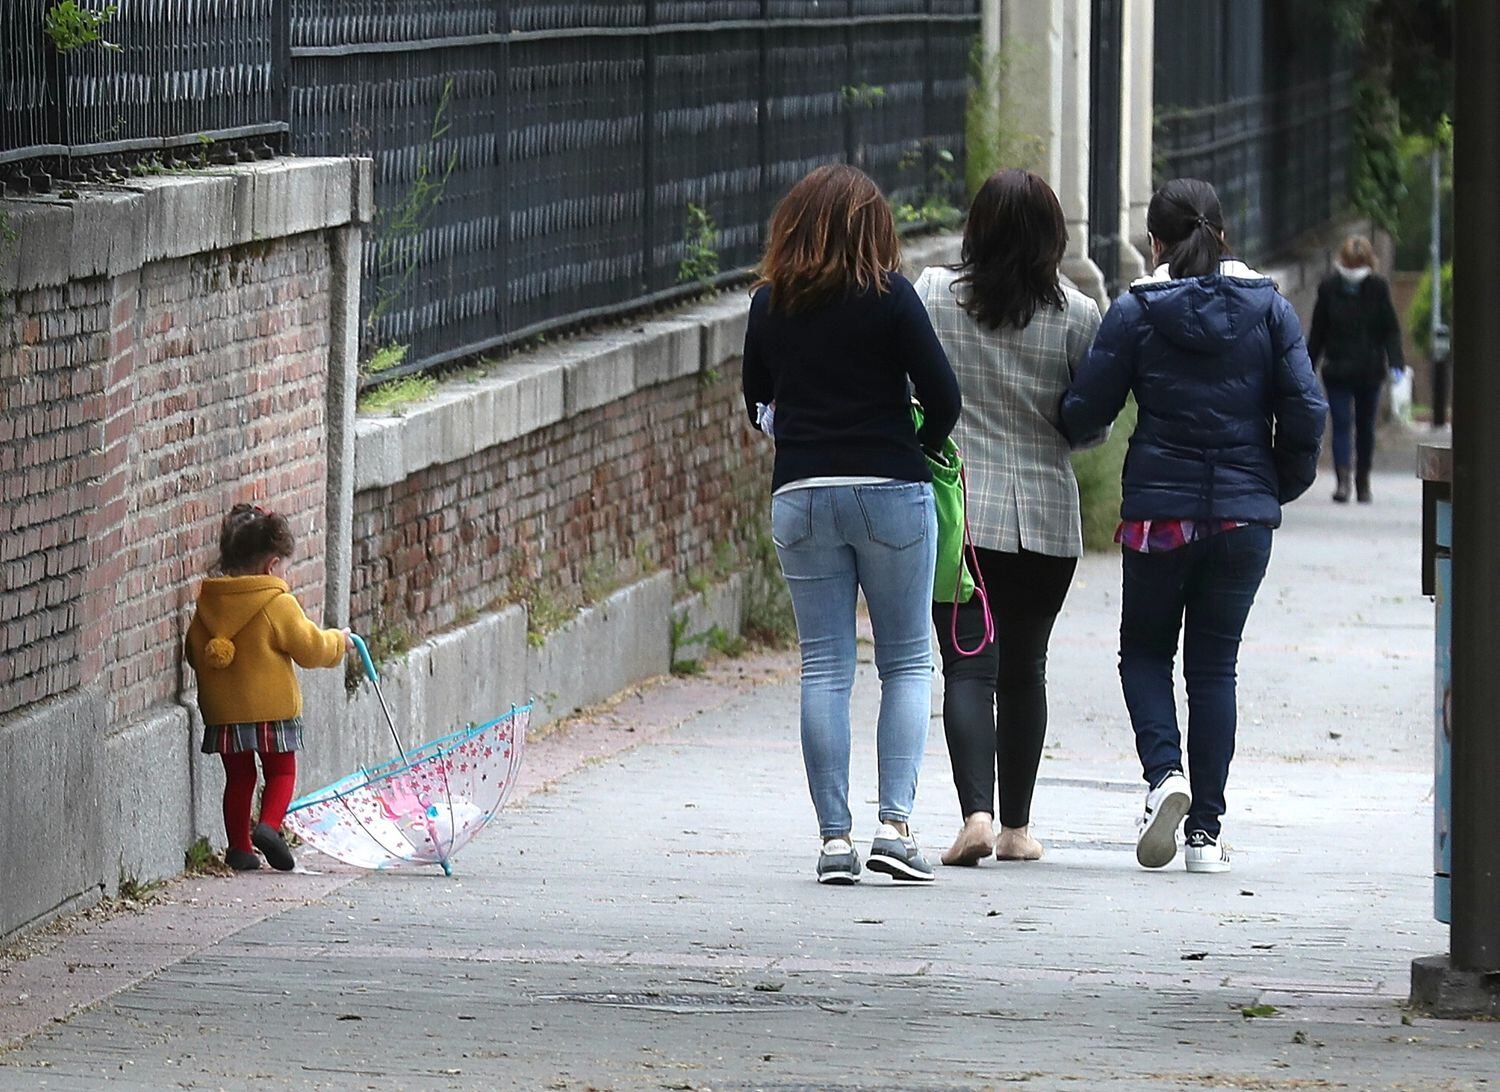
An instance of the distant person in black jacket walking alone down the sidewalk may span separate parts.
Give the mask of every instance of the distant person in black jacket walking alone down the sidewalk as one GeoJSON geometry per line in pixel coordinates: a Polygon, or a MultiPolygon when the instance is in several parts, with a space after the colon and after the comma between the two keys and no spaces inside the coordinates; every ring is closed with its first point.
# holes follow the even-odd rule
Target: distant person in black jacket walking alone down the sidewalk
{"type": "Polygon", "coordinates": [[[1350,480],[1360,504],[1370,504],[1370,466],[1376,454],[1376,410],[1386,370],[1401,372],[1401,326],[1390,306],[1390,285],[1376,273],[1376,249],[1350,236],[1334,272],[1317,288],[1308,356],[1323,360],[1323,388],[1334,417],[1334,500],[1348,501],[1350,480]],[[1353,434],[1353,436],[1350,435],[1353,434]],[[1350,440],[1353,438],[1353,474],[1350,440]]]}

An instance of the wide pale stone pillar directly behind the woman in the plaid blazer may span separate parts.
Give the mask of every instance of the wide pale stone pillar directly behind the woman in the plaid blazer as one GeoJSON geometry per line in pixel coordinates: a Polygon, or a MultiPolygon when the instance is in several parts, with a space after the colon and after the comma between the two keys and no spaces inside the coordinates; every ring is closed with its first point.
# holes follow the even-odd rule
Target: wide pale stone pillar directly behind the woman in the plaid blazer
{"type": "Polygon", "coordinates": [[[1104,308],[1104,274],[1089,260],[1089,0],[1005,0],[1002,94],[1017,129],[1035,136],[1036,162],[1026,165],[1062,201],[1062,272],[1104,308]]]}

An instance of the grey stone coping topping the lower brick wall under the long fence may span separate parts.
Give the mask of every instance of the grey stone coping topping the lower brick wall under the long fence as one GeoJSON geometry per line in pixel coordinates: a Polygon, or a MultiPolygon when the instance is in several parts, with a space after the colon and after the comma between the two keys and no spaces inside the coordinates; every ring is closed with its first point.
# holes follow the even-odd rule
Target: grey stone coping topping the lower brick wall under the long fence
{"type": "MultiPolygon", "coordinates": [[[[957,236],[914,240],[904,268],[916,276],[957,250],[957,236]]],[[[360,416],[354,490],[394,484],[660,382],[711,374],[741,354],[748,314],[748,292],[732,288],[681,315],[501,362],[489,376],[440,387],[399,416],[360,416]]]]}

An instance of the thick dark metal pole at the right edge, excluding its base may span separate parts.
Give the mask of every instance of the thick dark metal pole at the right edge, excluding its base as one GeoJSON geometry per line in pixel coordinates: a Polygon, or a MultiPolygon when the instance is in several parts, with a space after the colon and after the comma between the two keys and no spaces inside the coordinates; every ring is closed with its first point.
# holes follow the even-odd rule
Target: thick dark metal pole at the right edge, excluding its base
{"type": "Polygon", "coordinates": [[[1454,968],[1500,970],[1500,4],[1454,34],[1454,968]]]}

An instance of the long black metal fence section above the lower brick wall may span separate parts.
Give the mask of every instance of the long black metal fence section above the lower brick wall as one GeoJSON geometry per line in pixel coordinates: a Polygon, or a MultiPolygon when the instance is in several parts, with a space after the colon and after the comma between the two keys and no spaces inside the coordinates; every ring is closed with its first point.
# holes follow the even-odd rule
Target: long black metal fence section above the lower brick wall
{"type": "Polygon", "coordinates": [[[292,150],[376,160],[382,376],[722,280],[818,164],[958,198],[978,0],[291,4],[292,150]]]}

